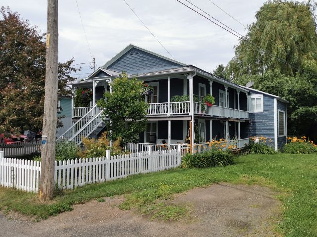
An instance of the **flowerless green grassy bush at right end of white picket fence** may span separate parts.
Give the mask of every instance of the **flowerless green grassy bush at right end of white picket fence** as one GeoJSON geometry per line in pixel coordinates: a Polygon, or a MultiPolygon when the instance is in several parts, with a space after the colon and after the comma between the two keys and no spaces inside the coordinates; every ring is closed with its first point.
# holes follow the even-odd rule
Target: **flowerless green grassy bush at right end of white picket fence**
{"type": "Polygon", "coordinates": [[[205,168],[233,164],[229,151],[211,150],[204,153],[187,154],[182,159],[183,168],[205,168]]]}

